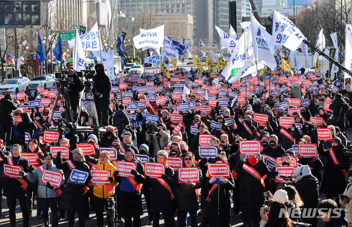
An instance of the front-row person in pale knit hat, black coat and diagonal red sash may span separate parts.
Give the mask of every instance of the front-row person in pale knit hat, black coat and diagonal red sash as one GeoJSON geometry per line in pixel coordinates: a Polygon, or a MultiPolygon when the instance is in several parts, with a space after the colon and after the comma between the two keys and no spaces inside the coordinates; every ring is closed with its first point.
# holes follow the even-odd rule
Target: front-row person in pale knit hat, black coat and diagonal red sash
{"type": "Polygon", "coordinates": [[[177,176],[173,169],[166,165],[167,157],[166,151],[158,151],[157,163],[165,164],[165,173],[161,178],[145,177],[145,183],[150,187],[153,227],[159,227],[160,213],[163,213],[165,227],[171,227],[171,202],[174,198],[171,187],[175,186],[177,176]]]}

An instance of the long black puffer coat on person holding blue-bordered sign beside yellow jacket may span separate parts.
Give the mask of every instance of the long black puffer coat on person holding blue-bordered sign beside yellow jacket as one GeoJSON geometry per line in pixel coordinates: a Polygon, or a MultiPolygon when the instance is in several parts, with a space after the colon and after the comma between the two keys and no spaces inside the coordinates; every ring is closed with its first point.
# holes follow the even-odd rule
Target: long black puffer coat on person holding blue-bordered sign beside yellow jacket
{"type": "MultiPolygon", "coordinates": [[[[76,169],[89,171],[89,166],[85,163],[84,157],[79,161],[73,161],[73,159],[71,161],[76,169]]],[[[69,179],[71,169],[67,162],[62,163],[61,159],[56,158],[56,167],[64,171],[65,179],[69,179]]],[[[73,212],[88,212],[88,193],[85,193],[83,187],[84,185],[66,183],[62,190],[59,208],[73,212]]]]}

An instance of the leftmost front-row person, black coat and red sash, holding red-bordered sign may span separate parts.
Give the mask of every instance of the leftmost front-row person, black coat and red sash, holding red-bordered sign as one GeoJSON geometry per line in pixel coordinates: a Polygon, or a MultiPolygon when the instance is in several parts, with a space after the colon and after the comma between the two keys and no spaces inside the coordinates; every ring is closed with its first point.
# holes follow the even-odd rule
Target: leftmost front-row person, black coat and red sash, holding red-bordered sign
{"type": "MultiPolygon", "coordinates": [[[[2,99],[1,99],[2,100],[2,99]]],[[[1,103],[1,102],[0,102],[1,103]]],[[[20,144],[14,144],[12,146],[12,156],[5,156],[4,153],[0,152],[0,165],[15,165],[21,166],[24,172],[33,172],[33,168],[29,167],[28,160],[21,156],[22,147],[20,144]]],[[[21,176],[21,175],[20,175],[21,176]]],[[[29,226],[29,212],[27,206],[27,190],[26,183],[23,178],[10,178],[6,177],[6,183],[3,188],[3,194],[6,196],[6,203],[9,212],[9,219],[11,227],[16,226],[16,200],[20,202],[22,211],[23,227],[29,226]]]]}

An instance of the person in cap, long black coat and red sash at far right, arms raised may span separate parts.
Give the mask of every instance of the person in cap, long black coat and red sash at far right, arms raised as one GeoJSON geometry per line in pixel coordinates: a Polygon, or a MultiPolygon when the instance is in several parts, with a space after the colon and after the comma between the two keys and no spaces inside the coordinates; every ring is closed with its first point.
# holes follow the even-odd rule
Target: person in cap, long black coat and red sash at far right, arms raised
{"type": "Polygon", "coordinates": [[[335,137],[332,140],[331,148],[323,148],[323,140],[320,141],[318,152],[320,155],[327,157],[325,171],[322,180],[322,193],[331,199],[336,196],[338,203],[338,195],[342,194],[346,188],[345,177],[350,167],[349,160],[345,158],[341,139],[335,137]]]}

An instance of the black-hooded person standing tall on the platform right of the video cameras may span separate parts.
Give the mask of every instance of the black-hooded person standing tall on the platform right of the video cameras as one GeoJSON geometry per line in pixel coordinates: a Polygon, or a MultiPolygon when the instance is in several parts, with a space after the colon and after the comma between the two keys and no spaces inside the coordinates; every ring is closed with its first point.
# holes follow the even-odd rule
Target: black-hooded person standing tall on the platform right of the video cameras
{"type": "Polygon", "coordinates": [[[111,81],[110,78],[105,74],[103,63],[95,65],[95,72],[96,74],[93,77],[93,94],[96,112],[98,114],[98,121],[99,125],[108,126],[111,81]]]}

